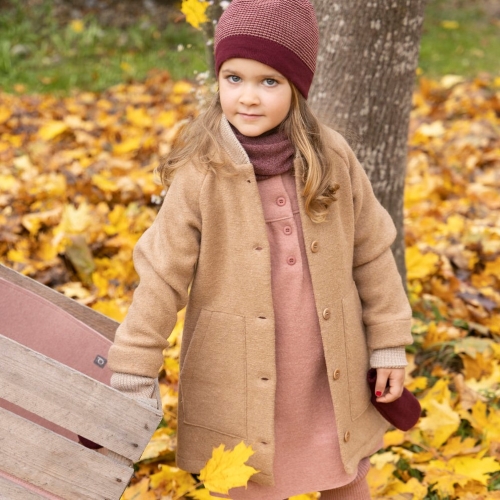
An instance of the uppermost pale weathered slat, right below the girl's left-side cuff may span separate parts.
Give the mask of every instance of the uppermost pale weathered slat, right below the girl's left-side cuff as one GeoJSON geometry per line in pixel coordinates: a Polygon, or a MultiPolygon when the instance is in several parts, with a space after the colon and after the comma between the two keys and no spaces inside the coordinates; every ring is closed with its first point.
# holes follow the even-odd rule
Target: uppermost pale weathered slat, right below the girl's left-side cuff
{"type": "Polygon", "coordinates": [[[145,406],[3,335],[0,380],[1,398],[134,462],[139,460],[162,417],[161,410],[145,406]]]}

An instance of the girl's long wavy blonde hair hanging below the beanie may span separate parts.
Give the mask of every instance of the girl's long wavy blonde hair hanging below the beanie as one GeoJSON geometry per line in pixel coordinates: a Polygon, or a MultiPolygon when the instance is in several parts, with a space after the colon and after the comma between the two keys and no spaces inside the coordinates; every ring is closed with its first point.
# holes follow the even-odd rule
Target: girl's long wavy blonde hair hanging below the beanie
{"type": "MultiPolygon", "coordinates": [[[[281,124],[302,159],[300,172],[304,182],[305,211],[313,222],[326,220],[328,207],[336,201],[339,185],[331,179],[331,159],[327,153],[324,130],[309,108],[302,94],[292,87],[292,102],[287,117],[281,124]]],[[[194,163],[197,167],[217,172],[227,167],[229,156],[220,144],[219,124],[222,108],[219,93],[212,98],[208,108],[187,124],[174,141],[172,150],[162,158],[157,173],[168,189],[175,171],[194,163]]]]}

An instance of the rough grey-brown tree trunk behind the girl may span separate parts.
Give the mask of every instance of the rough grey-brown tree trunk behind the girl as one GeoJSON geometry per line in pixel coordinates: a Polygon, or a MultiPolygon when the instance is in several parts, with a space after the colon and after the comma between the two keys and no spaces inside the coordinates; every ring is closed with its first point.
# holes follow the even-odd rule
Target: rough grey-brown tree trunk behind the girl
{"type": "Polygon", "coordinates": [[[398,230],[392,247],[406,286],[403,192],[424,0],[313,0],[320,51],[309,102],[345,132],[398,230]]]}

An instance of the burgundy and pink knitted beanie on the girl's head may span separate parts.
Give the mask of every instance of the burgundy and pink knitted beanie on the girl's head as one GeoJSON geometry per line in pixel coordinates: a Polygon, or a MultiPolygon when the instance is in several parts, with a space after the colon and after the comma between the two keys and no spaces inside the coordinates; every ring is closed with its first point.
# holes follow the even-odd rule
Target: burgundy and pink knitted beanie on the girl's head
{"type": "Polygon", "coordinates": [[[279,71],[307,99],[319,31],[309,0],[233,0],[215,30],[215,70],[233,57],[279,71]]]}

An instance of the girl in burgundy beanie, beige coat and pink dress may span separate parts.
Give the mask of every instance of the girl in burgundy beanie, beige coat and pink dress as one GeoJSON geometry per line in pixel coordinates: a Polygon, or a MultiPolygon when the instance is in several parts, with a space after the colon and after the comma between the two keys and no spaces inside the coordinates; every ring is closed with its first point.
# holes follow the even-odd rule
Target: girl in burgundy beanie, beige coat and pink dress
{"type": "Polygon", "coordinates": [[[366,372],[378,401],[397,399],[412,342],[392,220],[307,105],[317,49],[309,0],[225,11],[219,93],[160,167],[167,195],[135,248],[140,285],[110,351],[113,386],[153,398],[187,303],[177,465],[198,473],[221,443],[251,444],[260,472],[236,500],[369,498],[366,457],[387,422],[366,372]]]}

